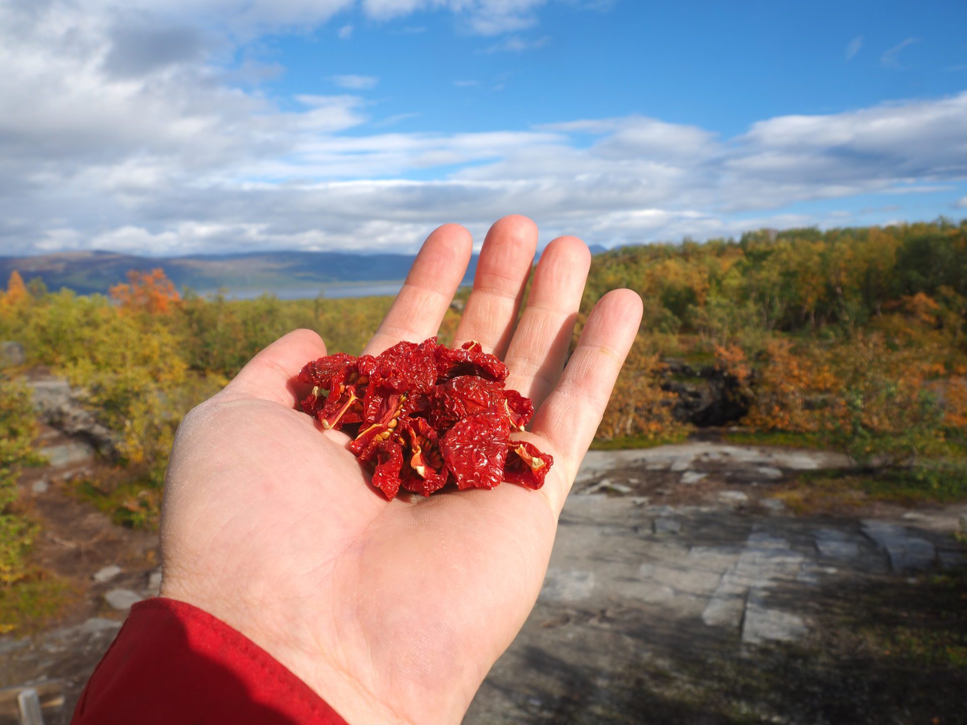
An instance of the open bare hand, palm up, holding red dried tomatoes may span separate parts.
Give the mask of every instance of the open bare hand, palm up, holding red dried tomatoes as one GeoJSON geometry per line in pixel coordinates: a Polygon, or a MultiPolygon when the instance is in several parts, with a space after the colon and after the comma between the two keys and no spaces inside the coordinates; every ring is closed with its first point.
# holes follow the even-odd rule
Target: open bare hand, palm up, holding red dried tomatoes
{"type": "MultiPolygon", "coordinates": [[[[573,237],[491,227],[455,343],[480,341],[534,400],[529,440],[554,456],[540,491],[504,483],[388,502],[348,437],[297,410],[293,378],[326,355],[289,333],[178,430],[161,517],[161,594],[235,627],[349,723],[456,723],[541,590],[557,518],[641,319],[630,290],[595,306],[568,355],[591,255],[573,237]]],[[[377,354],[437,332],[471,254],[448,225],[426,240],[370,340],[377,354]]]]}

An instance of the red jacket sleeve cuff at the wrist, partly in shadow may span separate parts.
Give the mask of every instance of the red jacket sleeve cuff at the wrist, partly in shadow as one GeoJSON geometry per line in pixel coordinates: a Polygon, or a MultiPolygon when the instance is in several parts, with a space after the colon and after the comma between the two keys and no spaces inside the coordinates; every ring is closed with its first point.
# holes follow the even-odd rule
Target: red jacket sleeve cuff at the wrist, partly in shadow
{"type": "Polygon", "coordinates": [[[72,725],[346,725],[248,637],[175,599],[132,607],[72,725]]]}

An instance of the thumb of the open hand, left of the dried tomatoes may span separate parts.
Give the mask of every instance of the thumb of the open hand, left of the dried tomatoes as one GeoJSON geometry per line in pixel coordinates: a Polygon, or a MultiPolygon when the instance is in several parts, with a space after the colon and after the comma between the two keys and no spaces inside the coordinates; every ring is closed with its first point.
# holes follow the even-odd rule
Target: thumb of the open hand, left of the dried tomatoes
{"type": "Polygon", "coordinates": [[[326,344],[318,333],[294,330],[279,337],[252,358],[225,391],[295,407],[299,402],[295,376],[307,362],[325,354],[326,344]]]}

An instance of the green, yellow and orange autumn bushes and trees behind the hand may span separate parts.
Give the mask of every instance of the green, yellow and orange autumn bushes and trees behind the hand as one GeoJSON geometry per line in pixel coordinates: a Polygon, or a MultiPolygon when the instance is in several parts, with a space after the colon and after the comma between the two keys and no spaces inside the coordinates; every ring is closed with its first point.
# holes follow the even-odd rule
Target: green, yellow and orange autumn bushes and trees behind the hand
{"type": "MultiPolygon", "coordinates": [[[[601,445],[681,439],[691,427],[682,387],[714,378],[735,396],[727,424],[810,436],[857,461],[967,449],[967,221],[614,249],[594,257],[579,323],[616,287],[637,291],[645,316],[601,445]]],[[[193,404],[295,328],[358,354],[391,303],[181,296],[161,270],[130,273],[109,297],[77,296],[14,274],[0,340],[67,375],[117,432],[124,482],[92,490],[142,525],[157,516],[174,431],[193,404]]],[[[458,318],[448,310],[441,340],[458,318]]]]}

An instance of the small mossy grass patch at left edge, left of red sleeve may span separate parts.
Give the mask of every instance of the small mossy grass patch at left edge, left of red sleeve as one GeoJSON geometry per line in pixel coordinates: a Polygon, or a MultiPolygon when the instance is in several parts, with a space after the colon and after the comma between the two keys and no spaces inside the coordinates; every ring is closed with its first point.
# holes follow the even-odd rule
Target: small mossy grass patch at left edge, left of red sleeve
{"type": "Polygon", "coordinates": [[[65,579],[36,572],[0,588],[0,634],[30,634],[57,619],[80,595],[65,579]]]}

